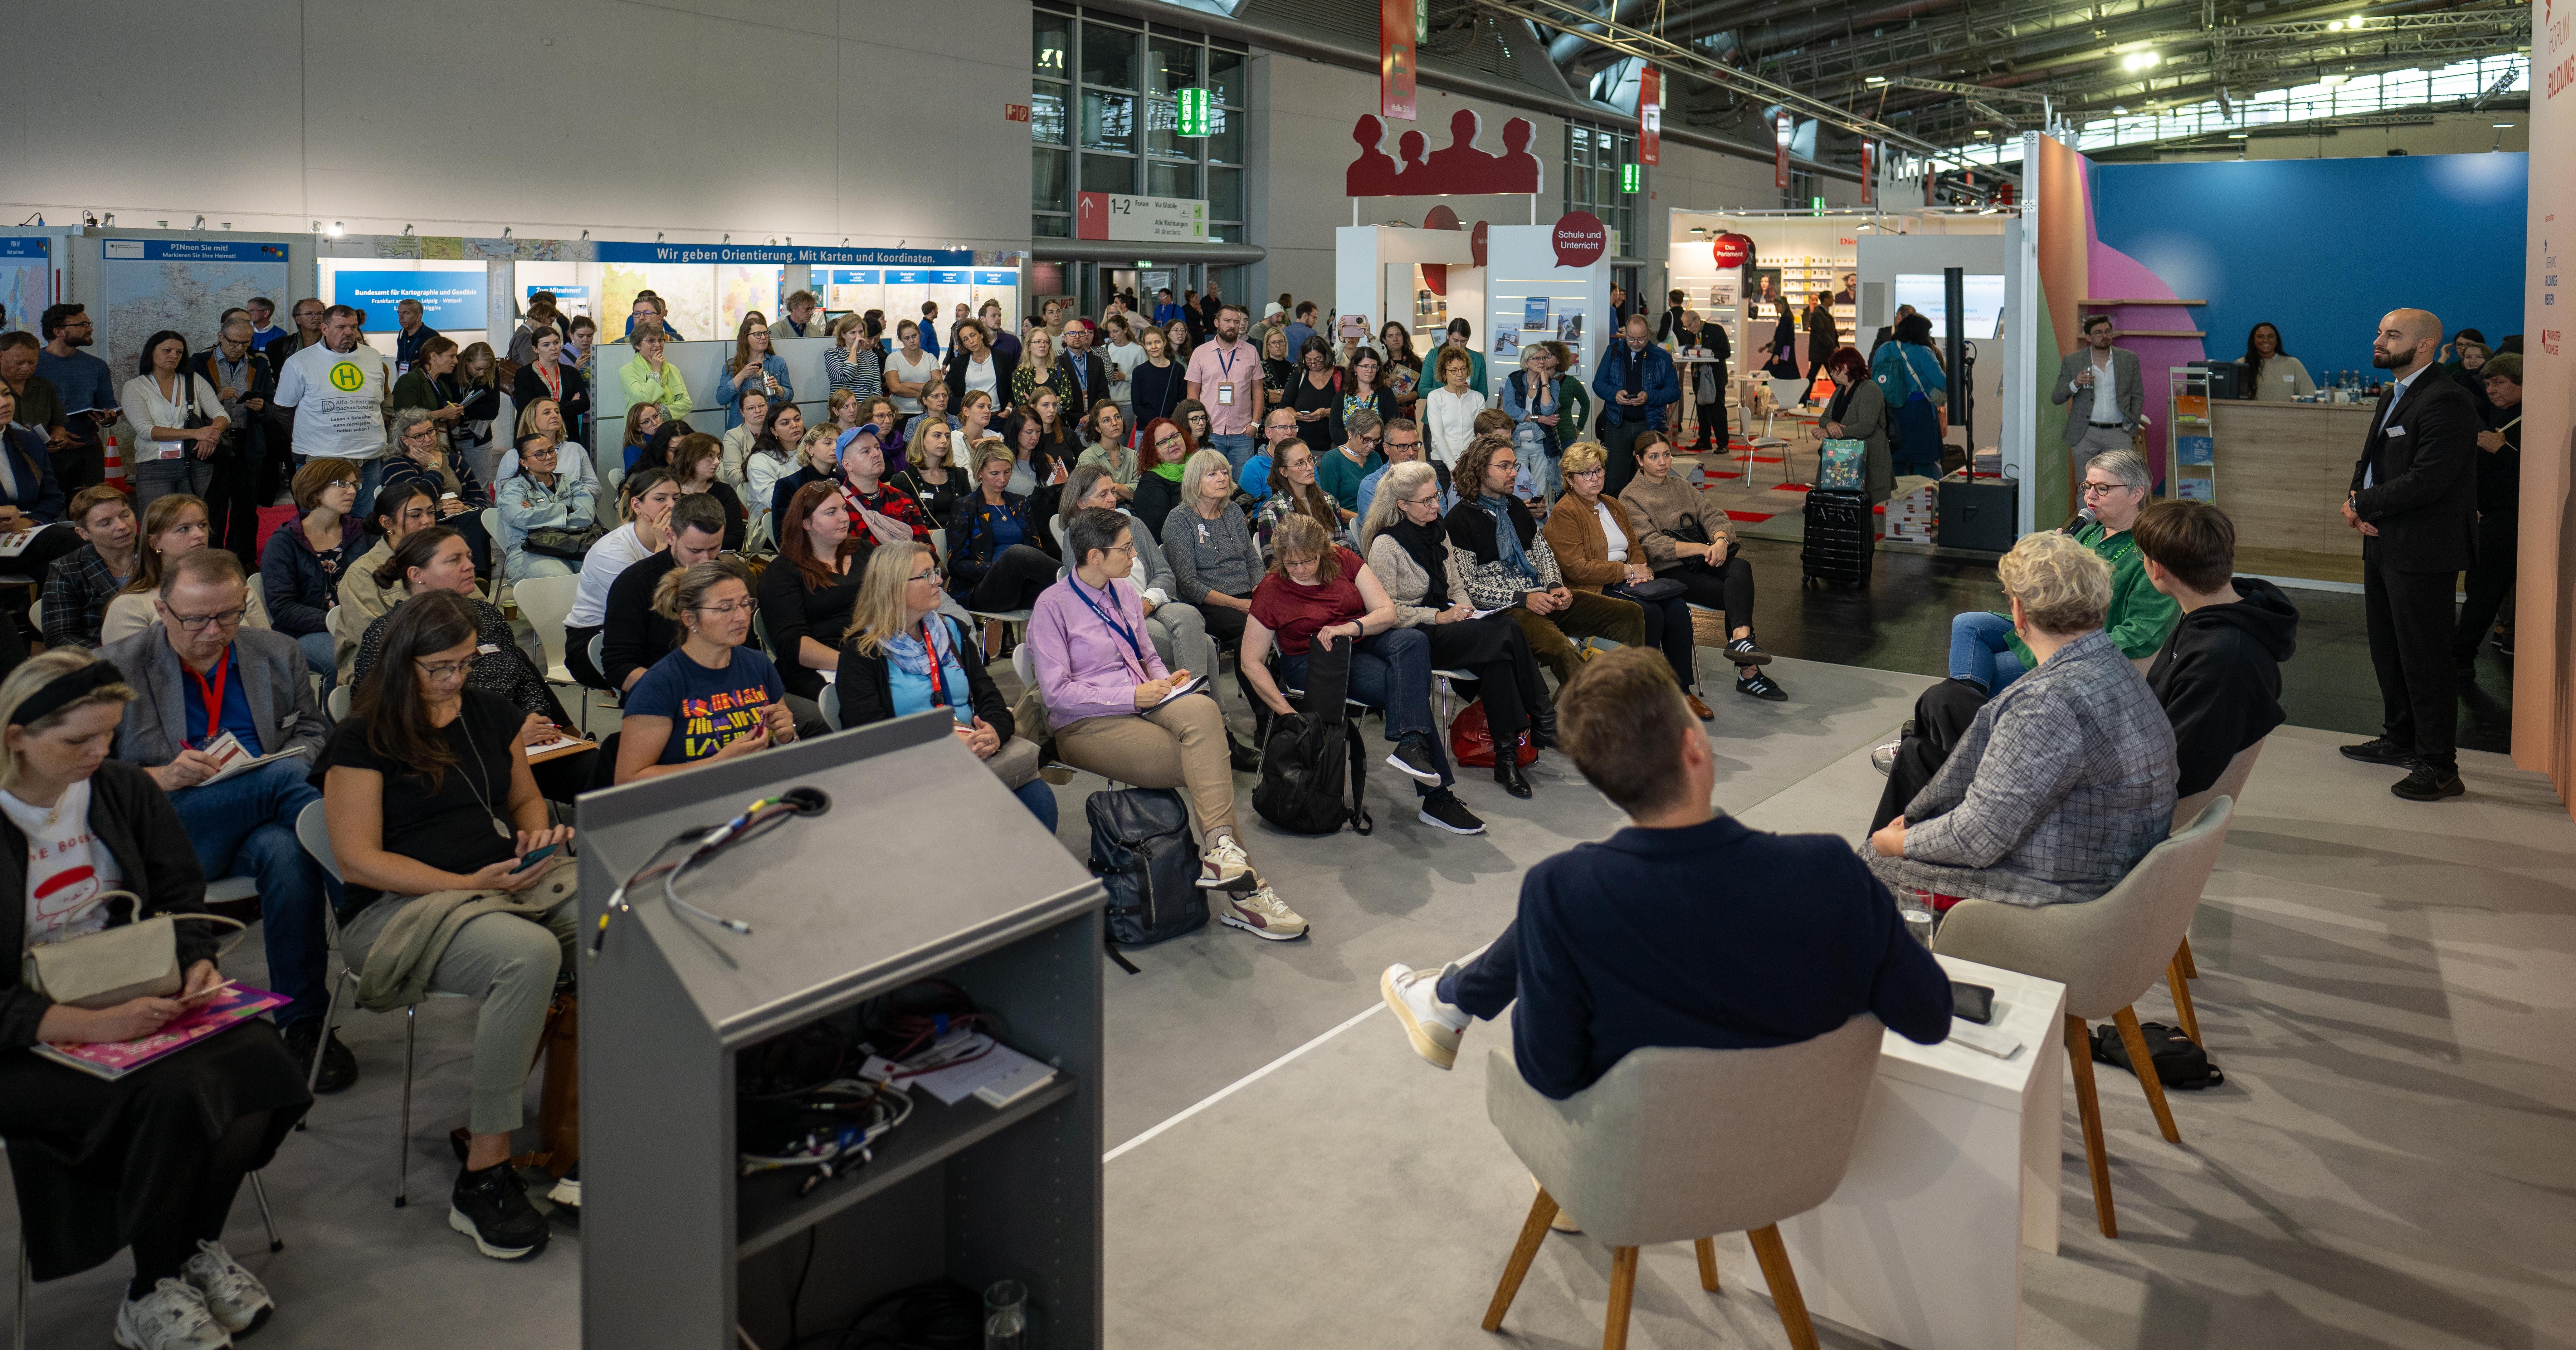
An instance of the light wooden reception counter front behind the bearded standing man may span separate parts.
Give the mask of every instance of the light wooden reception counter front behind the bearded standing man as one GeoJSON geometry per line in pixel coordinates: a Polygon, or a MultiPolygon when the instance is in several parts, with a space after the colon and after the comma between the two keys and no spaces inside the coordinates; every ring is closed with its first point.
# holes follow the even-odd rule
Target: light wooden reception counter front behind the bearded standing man
{"type": "Polygon", "coordinates": [[[2362,580],[2362,536],[2344,492],[2372,404],[2210,399],[2215,502],[2236,520],[2236,569],[2362,580]]]}

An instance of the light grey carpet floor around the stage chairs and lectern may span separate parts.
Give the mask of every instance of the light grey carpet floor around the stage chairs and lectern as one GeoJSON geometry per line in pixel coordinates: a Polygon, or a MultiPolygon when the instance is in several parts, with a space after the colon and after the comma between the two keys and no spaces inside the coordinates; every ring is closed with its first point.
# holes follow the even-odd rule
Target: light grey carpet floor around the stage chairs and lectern
{"type": "MultiPolygon", "coordinates": [[[[1716,698],[1718,806],[1857,835],[1880,783],[1868,747],[1927,680],[1775,670],[1790,703],[1716,698]]],[[[2463,755],[2468,799],[2414,806],[2388,796],[2391,773],[2336,757],[2339,739],[2275,734],[2195,922],[2226,1087],[2174,1098],[2172,1146],[2136,1082],[2102,1074],[2117,1242],[2092,1226],[2069,1098],[2063,1242],[2022,1255],[2022,1345],[2571,1345],[2576,824],[2499,755],[2463,755]]],[[[1255,860],[1314,938],[1208,930],[1110,974],[1110,1345],[1494,1345],[1476,1322],[1530,1201],[1481,1103],[1507,1033],[1476,1028],[1455,1072],[1430,1069],[1373,1012],[1376,974],[1473,951],[1507,922],[1520,868],[1618,824],[1561,757],[1535,778],[1533,801],[1463,778],[1481,837],[1417,822],[1394,770],[1370,775],[1370,840],[1255,827],[1255,860]]],[[[1059,791],[1069,842],[1095,786],[1059,791]]],[[[255,953],[237,961],[252,979],[255,953]]],[[[2172,1020],[2161,992],[2138,1010],[2172,1020]]],[[[440,1136],[461,1118],[469,1033],[469,1002],[422,1012],[415,1203],[397,1211],[402,1023],[348,1018],[361,1085],[268,1172],[286,1252],[265,1252],[247,1195],[234,1211],[232,1247],[281,1301],[250,1345],[577,1345],[577,1229],[526,1265],[446,1229],[440,1136]]],[[[1785,1345],[1741,1237],[1718,1247],[1718,1296],[1687,1247],[1646,1255],[1631,1345],[1785,1345]]],[[[13,1226],[0,1260],[15,1262],[13,1226]]],[[[106,1345],[121,1283],[116,1260],[39,1286],[31,1345],[106,1345]]],[[[1607,1252],[1551,1237],[1507,1332],[1597,1345],[1605,1293],[1607,1252]]]]}

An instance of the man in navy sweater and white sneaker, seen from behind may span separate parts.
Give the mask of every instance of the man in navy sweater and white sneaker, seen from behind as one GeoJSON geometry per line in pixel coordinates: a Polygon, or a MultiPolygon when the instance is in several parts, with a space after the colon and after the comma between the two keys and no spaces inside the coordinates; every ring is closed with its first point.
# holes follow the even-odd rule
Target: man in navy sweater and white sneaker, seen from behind
{"type": "Polygon", "coordinates": [[[1468,1018],[1504,1007],[1520,1077],[1558,1100],[1638,1046],[1788,1046],[1860,1012],[1950,1036],[1947,976],[1852,845],[1710,809],[1716,757],[1654,649],[1584,665],[1556,739],[1628,827],[1530,868],[1484,956],[1378,976],[1422,1059],[1448,1069],[1468,1018]]]}

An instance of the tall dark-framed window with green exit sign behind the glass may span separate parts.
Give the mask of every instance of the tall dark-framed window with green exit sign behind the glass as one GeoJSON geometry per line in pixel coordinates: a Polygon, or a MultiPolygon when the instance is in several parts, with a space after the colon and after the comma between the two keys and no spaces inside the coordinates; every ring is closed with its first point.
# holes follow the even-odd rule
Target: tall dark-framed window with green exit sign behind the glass
{"type": "Polygon", "coordinates": [[[1208,240],[1244,242],[1249,57],[1200,33],[1079,8],[1030,15],[1028,232],[1074,232],[1074,193],[1206,198],[1208,240]],[[1180,137],[1172,95],[1208,90],[1208,134],[1180,137]]]}

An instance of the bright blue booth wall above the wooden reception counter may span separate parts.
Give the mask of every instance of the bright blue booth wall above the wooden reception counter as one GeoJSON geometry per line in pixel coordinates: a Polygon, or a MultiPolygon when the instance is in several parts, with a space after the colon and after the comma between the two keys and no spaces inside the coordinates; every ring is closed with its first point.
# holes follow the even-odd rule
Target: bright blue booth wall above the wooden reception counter
{"type": "Polygon", "coordinates": [[[2522,332],[2527,173],[2522,152],[2097,165],[2094,234],[2210,301],[2213,361],[2272,322],[2326,381],[2370,368],[2391,309],[2432,309],[2445,340],[2522,332]]]}

